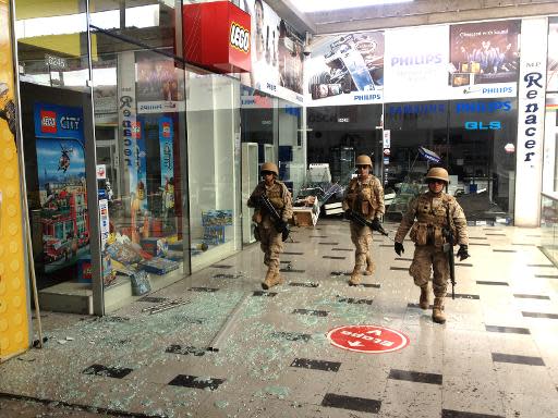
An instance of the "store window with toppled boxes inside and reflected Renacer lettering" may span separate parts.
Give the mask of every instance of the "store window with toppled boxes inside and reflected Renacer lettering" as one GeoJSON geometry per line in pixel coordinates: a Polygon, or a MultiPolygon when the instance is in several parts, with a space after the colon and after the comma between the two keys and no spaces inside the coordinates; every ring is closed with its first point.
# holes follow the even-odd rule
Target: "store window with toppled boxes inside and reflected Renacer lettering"
{"type": "Polygon", "coordinates": [[[182,216],[186,152],[185,140],[179,140],[185,137],[185,89],[174,37],[166,30],[173,24],[167,19],[172,9],[113,2],[108,10],[110,2],[95,3],[97,183],[104,300],[110,311],[190,270],[182,216]]]}

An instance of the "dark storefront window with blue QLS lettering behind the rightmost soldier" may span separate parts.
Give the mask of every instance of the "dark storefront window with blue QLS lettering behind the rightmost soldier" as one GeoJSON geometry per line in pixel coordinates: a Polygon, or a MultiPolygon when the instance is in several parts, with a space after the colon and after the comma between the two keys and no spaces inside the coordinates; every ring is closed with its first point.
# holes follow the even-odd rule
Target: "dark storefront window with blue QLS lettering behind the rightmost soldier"
{"type": "Polygon", "coordinates": [[[421,153],[422,147],[448,168],[448,193],[459,198],[468,220],[511,222],[518,127],[514,98],[387,103],[385,121],[391,137],[385,188],[408,196],[404,201],[396,198],[388,218],[399,220],[408,200],[426,188],[423,177],[432,161],[421,153]]]}

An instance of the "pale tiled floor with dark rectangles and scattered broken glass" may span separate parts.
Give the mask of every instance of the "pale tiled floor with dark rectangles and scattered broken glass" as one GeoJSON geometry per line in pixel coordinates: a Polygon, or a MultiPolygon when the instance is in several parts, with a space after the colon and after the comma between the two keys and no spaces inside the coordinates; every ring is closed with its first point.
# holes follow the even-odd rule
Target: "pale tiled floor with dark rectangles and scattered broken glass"
{"type": "Polygon", "coordinates": [[[558,270],[537,234],[470,228],[472,257],[438,325],[416,305],[412,243],[397,257],[375,237],[375,275],[349,286],[349,225],[320,220],[294,231],[286,283],[268,292],[253,245],[111,317],[48,314],[46,347],[0,365],[0,392],[128,416],[558,417],[558,270]],[[353,324],[410,343],[385,354],[330,344],[328,331],[353,324]]]}

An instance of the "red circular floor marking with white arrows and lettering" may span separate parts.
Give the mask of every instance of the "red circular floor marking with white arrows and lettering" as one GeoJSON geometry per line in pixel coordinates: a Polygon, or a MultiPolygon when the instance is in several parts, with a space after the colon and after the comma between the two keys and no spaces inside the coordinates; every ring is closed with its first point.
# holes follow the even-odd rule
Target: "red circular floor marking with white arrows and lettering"
{"type": "Polygon", "coordinates": [[[338,327],[327,337],[336,347],[359,353],[389,353],[409,345],[405,334],[379,325],[338,327]]]}

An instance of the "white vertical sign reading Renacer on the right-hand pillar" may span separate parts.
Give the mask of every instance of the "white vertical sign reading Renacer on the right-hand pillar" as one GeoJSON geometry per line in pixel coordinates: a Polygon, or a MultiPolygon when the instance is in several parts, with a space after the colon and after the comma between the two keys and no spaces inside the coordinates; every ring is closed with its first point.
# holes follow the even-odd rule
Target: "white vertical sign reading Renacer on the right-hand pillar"
{"type": "Polygon", "coordinates": [[[538,226],[546,93],[547,19],[521,25],[515,219],[518,226],[538,226]]]}

